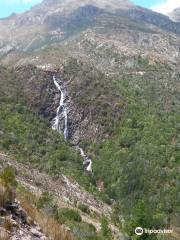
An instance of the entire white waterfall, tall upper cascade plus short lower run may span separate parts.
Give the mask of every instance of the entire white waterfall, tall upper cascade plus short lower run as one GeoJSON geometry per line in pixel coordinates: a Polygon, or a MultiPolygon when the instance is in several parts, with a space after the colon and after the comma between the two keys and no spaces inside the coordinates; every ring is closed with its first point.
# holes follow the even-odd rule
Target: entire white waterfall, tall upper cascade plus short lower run
{"type": "MultiPolygon", "coordinates": [[[[59,101],[59,106],[56,111],[56,117],[53,119],[53,125],[52,129],[58,131],[59,133],[62,133],[61,125],[60,125],[60,120],[61,116],[63,114],[63,120],[64,120],[64,129],[63,129],[63,134],[64,138],[68,138],[68,113],[67,113],[67,106],[65,104],[65,93],[63,88],[60,86],[60,84],[57,82],[56,77],[53,76],[53,82],[58,91],[60,92],[60,101],[59,101]]],[[[80,151],[80,155],[84,159],[83,165],[85,166],[86,170],[88,172],[92,173],[92,160],[87,157],[83,151],[82,148],[77,146],[77,148],[80,151]]]]}

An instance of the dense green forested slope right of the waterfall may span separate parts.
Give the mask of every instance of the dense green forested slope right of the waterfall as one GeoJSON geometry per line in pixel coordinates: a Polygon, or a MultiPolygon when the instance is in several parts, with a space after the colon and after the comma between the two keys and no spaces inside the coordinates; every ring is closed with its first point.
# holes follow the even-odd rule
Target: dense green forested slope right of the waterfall
{"type": "Polygon", "coordinates": [[[120,73],[116,84],[128,107],[114,136],[89,148],[95,176],[104,180],[109,197],[118,202],[116,220],[125,216],[130,236],[138,225],[178,226],[179,73],[141,58],[136,69],[120,73]]]}

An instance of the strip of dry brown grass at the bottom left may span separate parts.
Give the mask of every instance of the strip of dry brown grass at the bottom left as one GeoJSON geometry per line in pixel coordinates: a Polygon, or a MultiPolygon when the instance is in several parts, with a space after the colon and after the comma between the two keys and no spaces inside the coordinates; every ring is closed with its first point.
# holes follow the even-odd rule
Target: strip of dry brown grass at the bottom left
{"type": "Polygon", "coordinates": [[[42,212],[38,211],[21,193],[17,194],[21,206],[27,214],[36,221],[41,227],[43,233],[53,240],[75,240],[73,234],[60,225],[55,219],[45,216],[42,212]]]}

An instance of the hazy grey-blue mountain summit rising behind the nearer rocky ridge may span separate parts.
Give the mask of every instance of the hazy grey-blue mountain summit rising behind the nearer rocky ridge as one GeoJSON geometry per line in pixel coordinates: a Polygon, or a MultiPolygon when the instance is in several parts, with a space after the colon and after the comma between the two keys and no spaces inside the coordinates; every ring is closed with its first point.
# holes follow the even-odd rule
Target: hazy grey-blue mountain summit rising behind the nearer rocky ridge
{"type": "Polygon", "coordinates": [[[13,60],[17,52],[31,52],[46,44],[61,42],[100,26],[100,22],[120,21],[128,29],[127,18],[139,26],[145,24],[148,31],[180,34],[180,23],[128,0],[45,0],[23,14],[0,20],[0,56],[10,54],[13,60]]]}

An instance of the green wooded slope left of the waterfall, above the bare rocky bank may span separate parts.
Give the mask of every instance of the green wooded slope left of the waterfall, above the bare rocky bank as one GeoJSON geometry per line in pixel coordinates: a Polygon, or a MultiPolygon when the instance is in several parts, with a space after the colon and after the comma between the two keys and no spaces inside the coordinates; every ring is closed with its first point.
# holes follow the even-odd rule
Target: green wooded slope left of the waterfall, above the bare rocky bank
{"type": "Polygon", "coordinates": [[[0,75],[0,150],[50,174],[67,173],[86,184],[81,157],[63,136],[51,130],[30,101],[27,104],[29,97],[18,74],[1,67],[0,75]]]}

